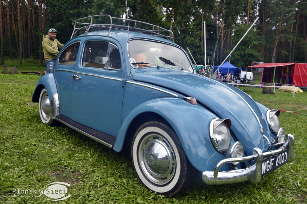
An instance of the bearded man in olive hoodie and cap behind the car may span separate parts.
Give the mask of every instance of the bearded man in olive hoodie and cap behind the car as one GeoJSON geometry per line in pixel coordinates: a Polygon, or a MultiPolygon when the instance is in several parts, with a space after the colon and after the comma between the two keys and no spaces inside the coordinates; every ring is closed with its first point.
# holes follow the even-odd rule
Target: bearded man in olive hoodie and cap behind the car
{"type": "Polygon", "coordinates": [[[43,51],[44,58],[47,62],[47,73],[51,73],[53,65],[56,61],[56,56],[64,45],[56,40],[56,29],[49,29],[48,35],[43,35],[43,51]]]}

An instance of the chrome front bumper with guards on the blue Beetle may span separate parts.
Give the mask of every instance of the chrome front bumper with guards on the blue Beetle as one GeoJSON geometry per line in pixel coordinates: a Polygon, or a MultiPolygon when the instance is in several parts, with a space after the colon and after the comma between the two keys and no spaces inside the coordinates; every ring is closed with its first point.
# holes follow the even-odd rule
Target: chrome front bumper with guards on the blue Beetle
{"type": "Polygon", "coordinates": [[[293,135],[288,134],[286,136],[286,141],[276,150],[271,150],[262,153],[259,148],[254,148],[253,155],[241,157],[241,158],[229,158],[223,159],[217,163],[214,171],[204,171],[202,174],[202,179],[207,184],[230,184],[230,183],[239,183],[239,182],[251,182],[258,183],[262,177],[262,167],[261,163],[264,157],[272,156],[279,154],[283,151],[286,151],[286,148],[289,150],[287,155],[287,162],[292,162],[294,159],[294,137],[293,135]],[[288,146],[288,147],[287,147],[288,146]],[[251,166],[245,169],[231,170],[231,171],[220,171],[220,167],[225,163],[232,162],[244,162],[251,161],[251,166]]]}

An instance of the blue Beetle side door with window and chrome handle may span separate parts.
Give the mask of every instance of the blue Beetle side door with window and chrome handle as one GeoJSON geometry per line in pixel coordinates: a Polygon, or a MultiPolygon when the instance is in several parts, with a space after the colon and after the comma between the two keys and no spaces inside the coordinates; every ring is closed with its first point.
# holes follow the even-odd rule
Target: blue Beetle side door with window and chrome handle
{"type": "Polygon", "coordinates": [[[98,40],[84,43],[81,65],[72,75],[72,120],[117,136],[125,80],[121,61],[115,43],[98,40]]]}

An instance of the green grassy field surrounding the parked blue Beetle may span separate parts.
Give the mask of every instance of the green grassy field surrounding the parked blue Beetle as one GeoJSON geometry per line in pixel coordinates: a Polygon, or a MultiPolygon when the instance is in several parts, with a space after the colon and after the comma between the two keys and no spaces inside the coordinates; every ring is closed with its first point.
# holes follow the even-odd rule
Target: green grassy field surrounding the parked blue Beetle
{"type": "MultiPolygon", "coordinates": [[[[27,63],[18,71],[44,70],[27,63]]],[[[14,66],[14,65],[10,65],[14,66]]],[[[0,67],[0,73],[2,69],[0,67]]],[[[258,184],[206,185],[193,182],[173,198],[147,190],[138,180],[130,155],[117,153],[72,129],[41,123],[31,96],[39,76],[0,74],[0,203],[306,203],[307,92],[246,90],[256,101],[281,112],[281,126],[295,137],[295,159],[264,176],[258,184]],[[66,182],[71,197],[49,201],[45,195],[13,194],[13,189],[43,189],[66,182]],[[28,195],[30,197],[12,197],[28,195]],[[32,197],[31,197],[32,196],[32,197]],[[43,198],[44,197],[44,198],[43,198]]],[[[243,90],[243,87],[241,87],[243,90]]]]}

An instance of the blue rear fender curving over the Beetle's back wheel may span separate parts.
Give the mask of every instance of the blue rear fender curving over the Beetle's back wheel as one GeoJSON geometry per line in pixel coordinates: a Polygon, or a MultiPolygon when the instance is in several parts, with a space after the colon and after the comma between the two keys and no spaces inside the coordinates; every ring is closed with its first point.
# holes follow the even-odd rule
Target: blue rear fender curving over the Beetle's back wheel
{"type": "Polygon", "coordinates": [[[49,100],[51,100],[52,96],[57,93],[56,82],[52,73],[45,74],[37,81],[32,94],[32,102],[37,103],[39,101],[41,90],[44,87],[47,89],[49,100]]]}

